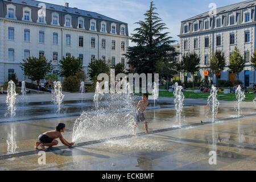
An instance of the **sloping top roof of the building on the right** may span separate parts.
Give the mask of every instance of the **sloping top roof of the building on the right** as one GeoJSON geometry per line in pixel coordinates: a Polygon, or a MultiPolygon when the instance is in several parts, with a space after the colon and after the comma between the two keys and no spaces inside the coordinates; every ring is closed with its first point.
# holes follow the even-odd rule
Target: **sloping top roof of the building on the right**
{"type": "MultiPolygon", "coordinates": [[[[256,5],[256,1],[243,1],[243,2],[239,2],[239,3],[235,3],[233,5],[228,5],[228,6],[223,6],[223,7],[218,7],[217,8],[217,14],[221,14],[221,13],[226,13],[228,11],[233,11],[233,10],[238,10],[238,9],[244,9],[246,7],[251,7],[251,6],[255,6],[256,5]]],[[[185,19],[182,22],[186,22],[189,20],[193,20],[193,19],[197,19],[197,18],[202,18],[202,17],[206,17],[209,16],[209,11],[197,15],[197,16],[193,16],[192,18],[189,19],[185,19]]]]}

